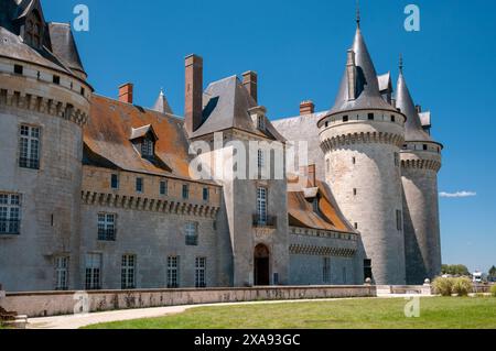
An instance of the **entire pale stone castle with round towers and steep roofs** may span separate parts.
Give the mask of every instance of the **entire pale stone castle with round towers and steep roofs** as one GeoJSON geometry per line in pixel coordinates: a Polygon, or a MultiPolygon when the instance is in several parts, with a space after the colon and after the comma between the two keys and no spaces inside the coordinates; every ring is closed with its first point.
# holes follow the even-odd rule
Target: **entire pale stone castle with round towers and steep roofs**
{"type": "MultiPolygon", "coordinates": [[[[441,271],[442,145],[400,75],[378,76],[357,21],[334,106],[271,121],[257,74],[211,83],[185,58],[185,113],[133,86],[94,92],[71,26],[0,2],[0,284],[7,290],[421,284],[441,271]],[[295,182],[193,177],[234,144],[309,145],[295,182]]],[[[343,55],[345,58],[345,55],[343,55]]],[[[259,149],[256,171],[276,164],[259,149]]],[[[250,160],[251,160],[250,158],[250,160]]],[[[270,171],[270,169],[269,169],[270,171]]],[[[270,173],[270,172],[269,172],[270,173]]]]}

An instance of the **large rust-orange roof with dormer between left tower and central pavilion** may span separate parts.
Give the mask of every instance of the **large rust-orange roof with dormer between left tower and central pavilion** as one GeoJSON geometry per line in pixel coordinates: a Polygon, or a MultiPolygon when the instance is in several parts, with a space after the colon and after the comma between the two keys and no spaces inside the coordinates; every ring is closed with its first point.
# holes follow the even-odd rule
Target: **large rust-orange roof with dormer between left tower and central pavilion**
{"type": "MultiPolygon", "coordinates": [[[[84,127],[84,163],[152,175],[191,179],[188,141],[182,119],[94,95],[91,118],[84,127]],[[132,130],[158,135],[159,163],[141,157],[132,130]]],[[[136,132],[137,133],[137,132],[136,132]]]]}

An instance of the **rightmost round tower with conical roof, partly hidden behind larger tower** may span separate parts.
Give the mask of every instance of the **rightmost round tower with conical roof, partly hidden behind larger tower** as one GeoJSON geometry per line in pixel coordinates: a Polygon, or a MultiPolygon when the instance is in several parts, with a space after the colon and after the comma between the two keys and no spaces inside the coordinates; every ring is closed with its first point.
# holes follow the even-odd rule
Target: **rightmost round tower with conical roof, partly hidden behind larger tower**
{"type": "Polygon", "coordinates": [[[420,108],[413,105],[402,63],[396,100],[407,116],[401,151],[407,283],[422,284],[425,278],[432,279],[441,273],[438,172],[443,146],[422,125],[420,108]]]}

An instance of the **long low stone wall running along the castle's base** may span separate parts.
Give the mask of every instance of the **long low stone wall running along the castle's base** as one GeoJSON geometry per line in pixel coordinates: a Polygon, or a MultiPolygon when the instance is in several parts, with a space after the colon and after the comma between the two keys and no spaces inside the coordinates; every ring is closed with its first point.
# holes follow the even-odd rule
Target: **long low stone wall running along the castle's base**
{"type": "Polygon", "coordinates": [[[0,301],[7,310],[29,317],[72,315],[87,299],[89,311],[256,300],[375,297],[376,287],[360,286],[284,286],[258,288],[150,289],[98,292],[8,293],[0,301]],[[85,295],[87,294],[87,295],[85,295]],[[79,301],[79,303],[78,303],[79,301]]]}

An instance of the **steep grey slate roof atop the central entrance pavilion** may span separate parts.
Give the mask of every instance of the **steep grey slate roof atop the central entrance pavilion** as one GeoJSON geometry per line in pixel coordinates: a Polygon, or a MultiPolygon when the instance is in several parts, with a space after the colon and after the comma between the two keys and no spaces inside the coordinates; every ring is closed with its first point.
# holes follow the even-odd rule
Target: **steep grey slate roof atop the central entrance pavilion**
{"type": "Polygon", "coordinates": [[[269,120],[266,129],[256,128],[248,111],[258,107],[237,76],[208,85],[203,94],[203,123],[193,133],[197,138],[226,129],[238,129],[271,140],[284,141],[269,120]]]}

